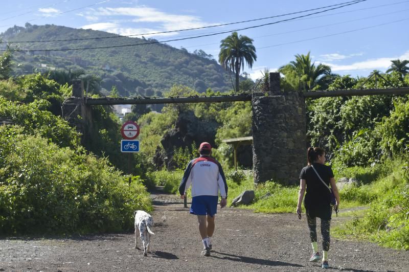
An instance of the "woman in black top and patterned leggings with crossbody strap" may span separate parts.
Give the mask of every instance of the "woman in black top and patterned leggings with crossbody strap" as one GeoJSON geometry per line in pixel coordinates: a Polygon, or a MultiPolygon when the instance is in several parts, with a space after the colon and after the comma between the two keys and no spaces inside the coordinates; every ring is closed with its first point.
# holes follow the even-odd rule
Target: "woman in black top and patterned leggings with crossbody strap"
{"type": "Polygon", "coordinates": [[[319,147],[310,147],[307,151],[308,165],[301,170],[300,173],[300,192],[298,195],[297,214],[301,219],[301,202],[303,201],[304,192],[307,189],[307,194],[304,199],[304,207],[307,215],[308,229],[310,232],[311,245],[313,255],[310,262],[320,260],[320,253],[318,252],[317,236],[316,236],[316,218],[321,218],[321,234],[323,236],[323,259],[322,267],[328,268],[328,250],[330,244],[329,228],[331,222],[331,193],[327,186],[331,184],[331,189],[334,193],[336,204],[334,210],[339,206],[339,194],[335,185],[334,174],[330,166],[325,164],[325,151],[319,147]],[[325,186],[321,179],[327,185],[325,186]]]}

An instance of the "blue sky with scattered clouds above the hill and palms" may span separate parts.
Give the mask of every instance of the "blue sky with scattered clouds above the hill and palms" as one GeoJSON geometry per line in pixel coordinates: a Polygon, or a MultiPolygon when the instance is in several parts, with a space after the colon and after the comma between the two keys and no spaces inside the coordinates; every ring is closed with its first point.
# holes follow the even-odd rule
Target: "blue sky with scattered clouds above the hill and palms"
{"type": "MultiPolygon", "coordinates": [[[[175,31],[276,16],[348,0],[15,0],[2,1],[0,32],[14,25],[54,24],[121,35],[175,31]]],[[[242,24],[191,31],[144,35],[157,40],[194,37],[268,24],[316,11],[242,24]]],[[[348,7],[278,24],[238,31],[254,39],[257,61],[245,72],[253,79],[261,71],[278,69],[307,54],[337,74],[368,76],[385,71],[392,59],[409,59],[409,0],[367,0],[348,7]]],[[[189,52],[201,49],[217,59],[220,40],[228,33],[167,42],[189,52]]]]}

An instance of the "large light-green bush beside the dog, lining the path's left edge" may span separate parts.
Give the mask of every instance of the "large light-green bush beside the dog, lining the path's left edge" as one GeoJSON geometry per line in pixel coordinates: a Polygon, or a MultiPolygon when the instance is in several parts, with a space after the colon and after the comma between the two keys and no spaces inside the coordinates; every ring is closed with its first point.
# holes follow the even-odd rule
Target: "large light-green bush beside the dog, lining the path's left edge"
{"type": "Polygon", "coordinates": [[[2,234],[123,231],[134,210],[152,209],[142,183],[129,185],[106,158],[20,132],[0,127],[2,234]]]}

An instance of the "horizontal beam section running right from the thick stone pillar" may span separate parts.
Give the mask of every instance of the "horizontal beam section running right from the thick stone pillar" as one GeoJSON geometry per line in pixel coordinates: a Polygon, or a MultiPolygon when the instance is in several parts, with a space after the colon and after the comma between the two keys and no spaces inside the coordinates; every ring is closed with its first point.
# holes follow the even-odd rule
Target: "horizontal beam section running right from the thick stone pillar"
{"type": "Polygon", "coordinates": [[[388,89],[342,89],[342,90],[317,90],[302,92],[304,97],[343,97],[343,96],[373,96],[373,95],[407,95],[409,87],[388,89]]]}

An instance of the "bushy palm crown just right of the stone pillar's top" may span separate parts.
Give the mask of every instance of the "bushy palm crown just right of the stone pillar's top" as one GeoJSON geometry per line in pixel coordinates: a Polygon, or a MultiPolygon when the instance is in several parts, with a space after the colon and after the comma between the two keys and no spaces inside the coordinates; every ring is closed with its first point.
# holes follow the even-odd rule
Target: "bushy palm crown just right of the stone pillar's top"
{"type": "Polygon", "coordinates": [[[286,77],[298,78],[298,86],[294,86],[294,89],[311,90],[323,76],[331,74],[330,66],[322,63],[315,66],[315,62],[311,64],[310,52],[307,55],[297,54],[295,57],[296,60],[290,61],[279,69],[279,72],[286,77]]]}

